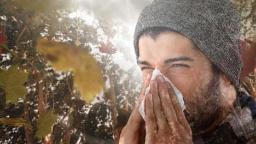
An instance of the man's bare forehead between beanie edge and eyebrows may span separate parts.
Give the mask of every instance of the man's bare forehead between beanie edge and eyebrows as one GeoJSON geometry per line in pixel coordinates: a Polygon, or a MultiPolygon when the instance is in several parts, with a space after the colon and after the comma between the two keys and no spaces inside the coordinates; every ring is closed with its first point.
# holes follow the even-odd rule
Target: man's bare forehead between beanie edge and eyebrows
{"type": "Polygon", "coordinates": [[[138,41],[139,61],[146,59],[165,59],[179,56],[197,57],[203,55],[192,41],[181,34],[163,33],[152,39],[142,36],[138,41]]]}

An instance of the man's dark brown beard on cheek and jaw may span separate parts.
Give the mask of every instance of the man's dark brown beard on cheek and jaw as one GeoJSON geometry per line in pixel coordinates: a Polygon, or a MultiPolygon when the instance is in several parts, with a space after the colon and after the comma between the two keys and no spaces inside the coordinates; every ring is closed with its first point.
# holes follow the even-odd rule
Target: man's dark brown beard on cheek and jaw
{"type": "Polygon", "coordinates": [[[200,88],[194,97],[195,101],[189,101],[184,110],[193,135],[211,127],[223,112],[218,71],[213,71],[210,82],[200,88]]]}

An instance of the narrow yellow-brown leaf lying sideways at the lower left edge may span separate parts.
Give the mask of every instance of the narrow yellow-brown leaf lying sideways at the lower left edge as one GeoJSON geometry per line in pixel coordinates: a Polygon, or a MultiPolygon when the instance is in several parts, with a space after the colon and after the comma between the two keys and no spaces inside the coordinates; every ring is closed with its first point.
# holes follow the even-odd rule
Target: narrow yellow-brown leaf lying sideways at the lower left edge
{"type": "Polygon", "coordinates": [[[27,126],[28,129],[32,129],[32,126],[28,124],[23,118],[0,118],[0,121],[8,127],[22,127],[27,126]]]}

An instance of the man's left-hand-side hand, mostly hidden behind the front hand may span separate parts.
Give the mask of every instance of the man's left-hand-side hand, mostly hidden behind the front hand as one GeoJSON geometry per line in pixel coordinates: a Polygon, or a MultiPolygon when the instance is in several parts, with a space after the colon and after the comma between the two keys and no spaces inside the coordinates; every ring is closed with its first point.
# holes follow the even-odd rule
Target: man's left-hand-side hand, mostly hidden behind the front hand
{"type": "Polygon", "coordinates": [[[151,77],[152,75],[148,75],[145,85],[142,89],[141,95],[139,95],[139,98],[131,113],[131,116],[120,134],[119,143],[122,143],[122,144],[135,143],[136,144],[136,143],[145,142],[145,135],[146,135],[146,131],[144,129],[145,123],[138,109],[139,109],[139,105],[141,104],[141,101],[144,98],[146,89],[149,86],[151,77]]]}

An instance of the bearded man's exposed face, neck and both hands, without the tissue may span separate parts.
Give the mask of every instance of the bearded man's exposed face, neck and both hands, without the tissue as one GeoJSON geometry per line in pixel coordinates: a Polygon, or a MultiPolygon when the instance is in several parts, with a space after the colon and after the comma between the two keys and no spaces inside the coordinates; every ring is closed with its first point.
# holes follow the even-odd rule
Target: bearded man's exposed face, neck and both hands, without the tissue
{"type": "Polygon", "coordinates": [[[138,65],[142,69],[141,96],[121,132],[120,143],[193,143],[193,135],[220,124],[234,107],[235,87],[222,73],[213,73],[210,60],[187,37],[162,33],[156,40],[139,38],[138,65]],[[138,112],[153,70],[159,69],[183,94],[181,110],[170,83],[159,75],[146,95],[146,137],[138,112]]]}

